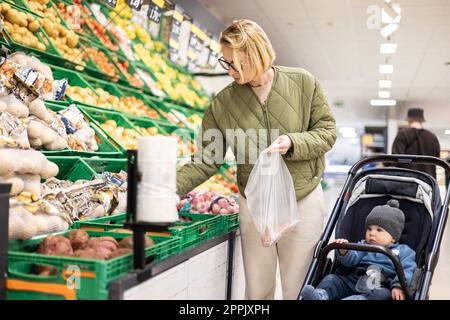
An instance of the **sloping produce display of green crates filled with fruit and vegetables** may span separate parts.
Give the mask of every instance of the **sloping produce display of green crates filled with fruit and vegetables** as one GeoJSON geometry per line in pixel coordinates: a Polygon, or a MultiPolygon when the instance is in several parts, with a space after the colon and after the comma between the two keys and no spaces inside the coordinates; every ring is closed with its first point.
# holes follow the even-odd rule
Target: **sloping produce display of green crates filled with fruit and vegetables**
{"type": "MultiPolygon", "coordinates": [[[[142,136],[174,136],[181,165],[210,97],[125,1],[0,1],[0,11],[7,298],[107,299],[133,270],[127,150],[142,136]],[[67,286],[71,272],[79,288],[67,286]]],[[[234,170],[226,163],[180,200],[173,227],[147,234],[152,263],[238,227],[234,170]]]]}

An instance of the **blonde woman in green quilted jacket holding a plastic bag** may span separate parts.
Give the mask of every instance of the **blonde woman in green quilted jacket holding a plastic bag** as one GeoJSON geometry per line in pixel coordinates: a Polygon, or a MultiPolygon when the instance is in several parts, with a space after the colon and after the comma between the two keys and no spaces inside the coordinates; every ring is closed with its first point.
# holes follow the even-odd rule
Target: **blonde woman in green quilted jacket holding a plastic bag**
{"type": "MultiPolygon", "coordinates": [[[[275,53],[262,28],[250,20],[236,20],[221,34],[221,65],[234,82],[220,91],[205,112],[202,130],[219,131],[217,152],[203,142],[203,162],[185,165],[178,172],[177,191],[185,194],[214,175],[231,146],[238,160],[240,228],[246,279],[246,298],[273,299],[279,261],[284,299],[296,299],[306,276],[314,247],[321,235],[326,212],[320,179],[324,154],[336,140],[336,125],[317,80],[299,68],[273,66],[275,53]],[[230,138],[230,129],[244,133],[242,148],[230,138]],[[299,222],[271,247],[263,247],[243,196],[254,165],[251,151],[259,148],[247,132],[267,129],[271,152],[283,155],[292,175],[299,222]],[[250,131],[248,131],[250,130],[250,131]],[[273,138],[273,131],[279,134],[273,138]],[[212,150],[212,151],[211,151],[212,150]],[[240,159],[241,158],[241,159],[240,159]],[[242,161],[243,160],[243,161],[242,161]]],[[[260,149],[258,149],[260,150],[260,149]]]]}

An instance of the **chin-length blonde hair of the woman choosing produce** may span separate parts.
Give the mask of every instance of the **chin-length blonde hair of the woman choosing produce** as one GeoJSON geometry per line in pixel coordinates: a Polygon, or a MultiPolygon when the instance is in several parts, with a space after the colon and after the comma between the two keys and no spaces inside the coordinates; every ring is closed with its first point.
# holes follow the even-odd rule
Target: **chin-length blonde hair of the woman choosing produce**
{"type": "Polygon", "coordinates": [[[267,71],[275,60],[275,51],[264,30],[254,21],[234,20],[220,35],[220,43],[233,49],[233,66],[244,78],[239,51],[248,57],[253,77],[267,71]]]}

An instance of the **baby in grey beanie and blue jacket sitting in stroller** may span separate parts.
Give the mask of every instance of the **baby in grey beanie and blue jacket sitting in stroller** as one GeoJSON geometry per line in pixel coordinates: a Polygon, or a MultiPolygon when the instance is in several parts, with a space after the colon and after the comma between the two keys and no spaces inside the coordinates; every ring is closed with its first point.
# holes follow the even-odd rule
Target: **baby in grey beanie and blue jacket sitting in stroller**
{"type": "MultiPolygon", "coordinates": [[[[396,254],[405,272],[408,286],[416,269],[416,253],[409,246],[399,244],[405,215],[397,200],[376,206],[366,218],[365,240],[362,244],[381,245],[396,254]]],[[[346,243],[337,239],[336,243],[346,243]]],[[[307,285],[301,291],[304,300],[404,300],[392,261],[385,255],[367,251],[339,250],[340,263],[352,268],[349,275],[329,274],[314,288],[307,285]]]]}

